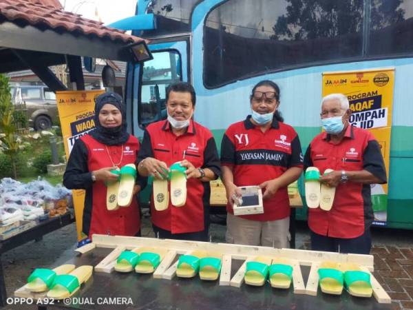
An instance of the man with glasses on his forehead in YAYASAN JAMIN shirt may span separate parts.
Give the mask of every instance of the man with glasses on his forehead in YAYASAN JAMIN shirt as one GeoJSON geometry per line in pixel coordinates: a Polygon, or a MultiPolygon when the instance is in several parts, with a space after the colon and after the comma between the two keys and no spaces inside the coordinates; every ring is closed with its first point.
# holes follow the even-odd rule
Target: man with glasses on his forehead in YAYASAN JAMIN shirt
{"type": "Polygon", "coordinates": [[[297,133],[277,111],[279,87],[261,81],[251,94],[251,116],[226,130],[221,145],[222,181],[226,188],[226,242],[288,247],[290,201],[287,186],[299,178],[303,155],[297,133]],[[260,185],[264,214],[233,215],[239,187],[260,185]]]}

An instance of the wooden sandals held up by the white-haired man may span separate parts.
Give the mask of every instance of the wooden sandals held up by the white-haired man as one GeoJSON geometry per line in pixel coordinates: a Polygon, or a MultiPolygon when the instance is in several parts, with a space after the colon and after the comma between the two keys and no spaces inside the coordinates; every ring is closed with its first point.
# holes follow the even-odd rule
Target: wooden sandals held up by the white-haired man
{"type": "MultiPolygon", "coordinates": [[[[324,175],[334,170],[326,169],[324,175]]],[[[304,174],[306,183],[307,207],[315,209],[320,207],[324,211],[330,211],[335,197],[335,187],[326,184],[320,185],[320,172],[317,167],[308,167],[304,174]]]]}

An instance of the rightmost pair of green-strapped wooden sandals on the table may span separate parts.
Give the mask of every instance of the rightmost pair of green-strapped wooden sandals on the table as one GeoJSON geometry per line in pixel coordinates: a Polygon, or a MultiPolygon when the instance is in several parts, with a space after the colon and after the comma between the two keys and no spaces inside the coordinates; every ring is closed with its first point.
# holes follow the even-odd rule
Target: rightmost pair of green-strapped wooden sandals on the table
{"type": "Polygon", "coordinates": [[[341,295],[343,287],[357,297],[372,297],[370,273],[357,265],[340,265],[337,262],[323,262],[318,269],[319,286],[323,293],[341,295]]]}

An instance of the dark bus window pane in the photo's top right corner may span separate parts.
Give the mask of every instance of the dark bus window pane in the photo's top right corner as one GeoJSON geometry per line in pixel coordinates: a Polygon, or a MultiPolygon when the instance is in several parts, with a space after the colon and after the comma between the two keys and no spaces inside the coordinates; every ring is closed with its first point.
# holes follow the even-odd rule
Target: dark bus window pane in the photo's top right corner
{"type": "Polygon", "coordinates": [[[370,21],[370,56],[412,53],[413,1],[374,0],[370,21]]]}

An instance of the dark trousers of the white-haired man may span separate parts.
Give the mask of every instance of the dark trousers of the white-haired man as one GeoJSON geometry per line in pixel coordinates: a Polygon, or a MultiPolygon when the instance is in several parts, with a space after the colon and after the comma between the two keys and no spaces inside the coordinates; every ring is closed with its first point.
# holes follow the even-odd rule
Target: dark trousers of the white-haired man
{"type": "Polygon", "coordinates": [[[311,231],[311,249],[313,251],[329,251],[353,254],[370,254],[372,236],[370,228],[357,238],[332,238],[315,234],[311,231]]]}

